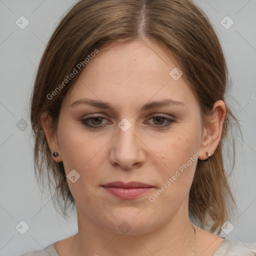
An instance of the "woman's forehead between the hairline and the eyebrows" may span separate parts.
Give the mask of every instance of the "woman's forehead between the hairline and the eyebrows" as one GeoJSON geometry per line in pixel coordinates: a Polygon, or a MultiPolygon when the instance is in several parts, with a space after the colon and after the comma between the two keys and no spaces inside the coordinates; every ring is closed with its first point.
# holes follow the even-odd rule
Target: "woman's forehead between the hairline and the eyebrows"
{"type": "Polygon", "coordinates": [[[133,99],[133,103],[150,98],[192,99],[182,75],[177,80],[170,75],[178,67],[174,57],[160,44],[141,40],[113,42],[98,50],[69,90],[69,103],[81,96],[127,104],[128,99],[133,99]]]}

